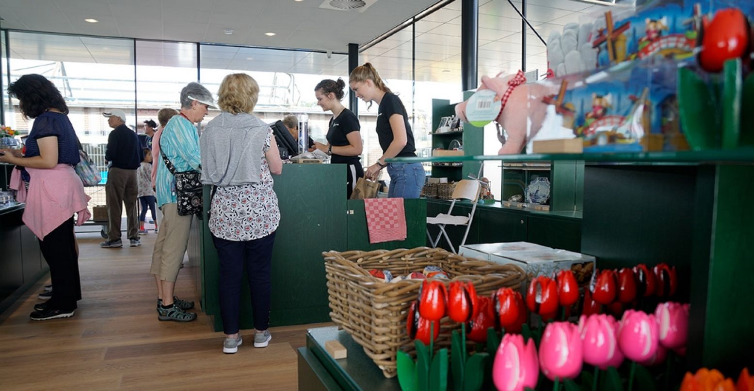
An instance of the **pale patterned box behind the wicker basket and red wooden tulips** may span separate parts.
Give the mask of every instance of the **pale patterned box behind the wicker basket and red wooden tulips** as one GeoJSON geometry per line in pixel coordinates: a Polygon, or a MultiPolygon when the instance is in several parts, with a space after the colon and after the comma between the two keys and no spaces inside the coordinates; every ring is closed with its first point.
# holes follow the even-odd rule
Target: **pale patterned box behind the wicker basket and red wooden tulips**
{"type": "Polygon", "coordinates": [[[470,258],[485,259],[501,264],[513,263],[520,266],[526,271],[524,290],[535,277],[541,275],[553,277],[557,271],[566,269],[574,272],[579,286],[587,286],[596,267],[596,259],[593,256],[526,241],[466,244],[461,246],[458,253],[470,258]]]}

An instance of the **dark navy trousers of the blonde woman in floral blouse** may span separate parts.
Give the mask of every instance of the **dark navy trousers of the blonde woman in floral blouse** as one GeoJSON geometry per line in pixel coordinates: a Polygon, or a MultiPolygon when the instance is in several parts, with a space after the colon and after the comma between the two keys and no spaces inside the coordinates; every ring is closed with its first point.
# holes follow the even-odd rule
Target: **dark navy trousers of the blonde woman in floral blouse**
{"type": "Polygon", "coordinates": [[[235,334],[240,327],[244,265],[251,291],[254,328],[266,330],[270,323],[271,259],[275,232],[252,241],[228,241],[214,235],[212,238],[220,259],[219,299],[223,332],[235,334]]]}

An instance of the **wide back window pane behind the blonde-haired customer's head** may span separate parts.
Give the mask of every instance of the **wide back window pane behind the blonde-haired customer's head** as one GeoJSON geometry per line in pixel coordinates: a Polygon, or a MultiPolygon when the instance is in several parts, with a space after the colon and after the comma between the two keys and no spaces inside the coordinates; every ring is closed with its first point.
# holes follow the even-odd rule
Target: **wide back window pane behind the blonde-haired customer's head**
{"type": "MultiPolygon", "coordinates": [[[[286,114],[308,114],[309,132],[315,141],[326,143],[332,114],[323,113],[314,98],[314,86],[323,79],[348,84],[348,57],[342,54],[251,47],[201,46],[201,83],[217,93],[227,74],[246,73],[259,83],[259,101],[254,114],[266,123],[286,114]]],[[[348,88],[343,99],[348,106],[348,88]]],[[[205,121],[217,115],[210,111],[205,121]]]]}

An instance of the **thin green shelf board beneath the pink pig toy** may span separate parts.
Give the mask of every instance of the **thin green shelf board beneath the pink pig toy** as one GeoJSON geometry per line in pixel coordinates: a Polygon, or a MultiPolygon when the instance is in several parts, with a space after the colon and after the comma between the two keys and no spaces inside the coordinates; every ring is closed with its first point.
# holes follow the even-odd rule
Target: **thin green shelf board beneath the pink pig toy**
{"type": "Polygon", "coordinates": [[[633,163],[646,164],[752,164],[754,148],[734,150],[686,150],[679,152],[641,153],[529,153],[526,155],[478,155],[478,156],[438,156],[438,157],[397,157],[388,162],[483,162],[501,160],[504,162],[534,161],[583,161],[589,163],[633,163]]]}

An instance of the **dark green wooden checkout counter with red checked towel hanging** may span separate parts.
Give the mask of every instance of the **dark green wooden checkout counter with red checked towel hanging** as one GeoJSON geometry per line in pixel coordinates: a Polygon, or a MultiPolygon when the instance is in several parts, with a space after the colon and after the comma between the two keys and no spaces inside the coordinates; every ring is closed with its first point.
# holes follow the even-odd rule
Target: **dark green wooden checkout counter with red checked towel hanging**
{"type": "MultiPolygon", "coordinates": [[[[347,200],[345,165],[284,165],[274,176],[280,205],[280,226],[272,250],[272,302],[270,326],[329,321],[326,277],[322,252],[373,250],[425,245],[425,199],[405,200],[407,238],[369,244],[362,200],[347,200]]],[[[204,209],[209,210],[210,186],[204,188],[204,209]]],[[[222,330],[219,317],[219,262],[207,219],[192,223],[189,262],[195,268],[201,309],[214,316],[214,329],[222,330]]],[[[253,328],[247,284],[241,294],[241,329],[253,328]]]]}

